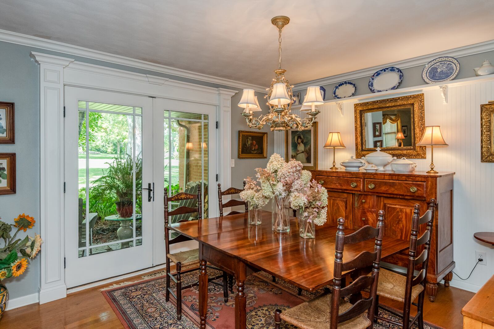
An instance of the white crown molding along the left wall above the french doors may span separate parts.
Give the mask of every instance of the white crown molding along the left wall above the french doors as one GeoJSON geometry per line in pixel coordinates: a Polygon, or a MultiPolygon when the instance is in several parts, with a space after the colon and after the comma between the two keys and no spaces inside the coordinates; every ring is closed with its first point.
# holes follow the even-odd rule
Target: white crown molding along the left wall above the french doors
{"type": "Polygon", "coordinates": [[[247,82],[235,81],[218,76],[176,69],[165,65],[145,62],[133,58],[109,54],[102,51],[92,50],[67,43],[47,40],[40,37],[32,37],[32,36],[23,35],[20,33],[15,33],[5,30],[0,30],[0,41],[61,52],[73,56],[81,56],[85,58],[95,59],[95,60],[114,63],[114,64],[120,64],[120,65],[143,69],[143,70],[176,75],[176,76],[204,81],[204,82],[237,87],[241,89],[251,88],[254,89],[255,91],[266,93],[266,87],[250,84],[247,82]]]}

